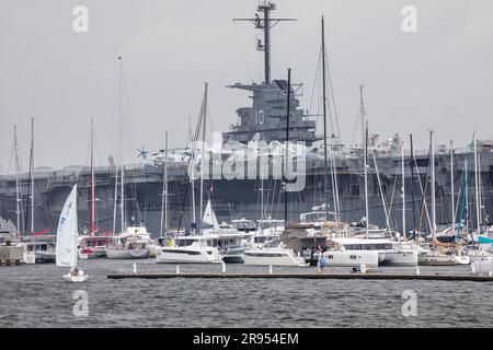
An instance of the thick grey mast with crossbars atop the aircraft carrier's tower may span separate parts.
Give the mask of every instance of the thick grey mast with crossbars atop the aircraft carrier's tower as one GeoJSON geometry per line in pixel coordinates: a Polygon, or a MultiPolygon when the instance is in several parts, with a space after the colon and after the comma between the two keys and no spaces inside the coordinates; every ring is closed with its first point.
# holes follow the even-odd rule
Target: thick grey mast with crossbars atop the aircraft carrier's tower
{"type": "Polygon", "coordinates": [[[263,13],[263,19],[261,19],[256,13],[254,19],[233,19],[233,22],[252,22],[256,30],[264,32],[264,43],[262,44],[260,39],[256,42],[256,49],[259,51],[264,51],[264,84],[271,83],[271,30],[279,22],[296,21],[296,19],[271,19],[271,11],[275,9],[275,3],[263,1],[263,3],[259,4],[256,8],[256,12],[263,13]]]}

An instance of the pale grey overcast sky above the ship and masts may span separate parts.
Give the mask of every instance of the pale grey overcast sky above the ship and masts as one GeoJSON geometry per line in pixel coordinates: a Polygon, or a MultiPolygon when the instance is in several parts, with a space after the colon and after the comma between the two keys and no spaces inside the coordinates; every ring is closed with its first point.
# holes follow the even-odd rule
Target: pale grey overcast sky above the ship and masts
{"type": "MultiPolygon", "coordinates": [[[[233,18],[253,16],[257,0],[0,0],[0,165],[12,172],[13,124],[21,158],[28,162],[30,118],[36,124],[36,163],[88,163],[90,117],[94,117],[99,164],[116,149],[118,63],[124,58],[126,162],[136,148],[182,147],[187,116],[195,121],[204,81],[215,131],[237,121],[248,94],[225,86],[259,81],[261,33],[233,18]],[[89,33],[72,31],[72,9],[89,9],[89,33]]],[[[426,147],[465,147],[473,130],[493,137],[493,1],[491,0],[277,0],[275,16],[297,18],[273,31],[273,78],[305,83],[308,108],[318,52],[320,16],[343,141],[351,142],[358,86],[380,140],[413,133],[426,147]],[[417,33],[401,30],[401,10],[417,9],[417,33]]]]}

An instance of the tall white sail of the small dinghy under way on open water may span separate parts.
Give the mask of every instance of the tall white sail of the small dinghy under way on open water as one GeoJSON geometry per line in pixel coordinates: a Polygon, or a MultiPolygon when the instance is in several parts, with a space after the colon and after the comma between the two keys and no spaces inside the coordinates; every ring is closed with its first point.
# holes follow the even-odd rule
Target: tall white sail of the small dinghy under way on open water
{"type": "Polygon", "coordinates": [[[57,266],[77,266],[77,185],[65,201],[58,220],[56,261],[57,266]]]}

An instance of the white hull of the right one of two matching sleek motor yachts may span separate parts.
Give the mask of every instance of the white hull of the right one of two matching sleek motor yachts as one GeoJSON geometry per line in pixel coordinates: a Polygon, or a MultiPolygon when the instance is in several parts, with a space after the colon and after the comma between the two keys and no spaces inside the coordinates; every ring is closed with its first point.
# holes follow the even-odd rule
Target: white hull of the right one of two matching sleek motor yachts
{"type": "Polygon", "coordinates": [[[284,249],[246,249],[243,259],[244,265],[307,266],[302,257],[284,249]]]}

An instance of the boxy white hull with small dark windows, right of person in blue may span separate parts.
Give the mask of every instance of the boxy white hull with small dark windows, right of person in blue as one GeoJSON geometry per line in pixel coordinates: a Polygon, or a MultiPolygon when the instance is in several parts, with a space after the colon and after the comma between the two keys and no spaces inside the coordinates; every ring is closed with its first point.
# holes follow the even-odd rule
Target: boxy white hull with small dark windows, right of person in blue
{"type": "Polygon", "coordinates": [[[323,257],[329,267],[359,267],[363,264],[376,267],[385,258],[377,250],[329,250],[323,257]]]}

